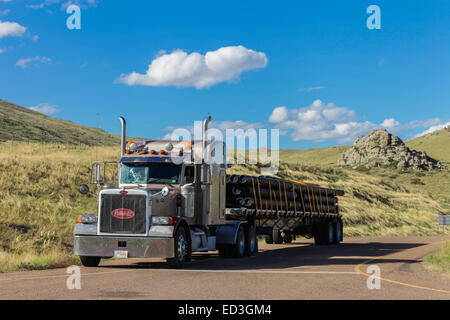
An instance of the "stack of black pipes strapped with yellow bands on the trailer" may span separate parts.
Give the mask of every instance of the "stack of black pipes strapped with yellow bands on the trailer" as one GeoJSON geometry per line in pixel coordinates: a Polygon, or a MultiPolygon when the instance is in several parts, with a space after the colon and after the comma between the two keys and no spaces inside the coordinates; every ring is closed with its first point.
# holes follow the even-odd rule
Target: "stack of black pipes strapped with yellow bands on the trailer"
{"type": "Polygon", "coordinates": [[[337,213],[344,191],[268,176],[227,175],[228,208],[265,212],[337,213]]]}

